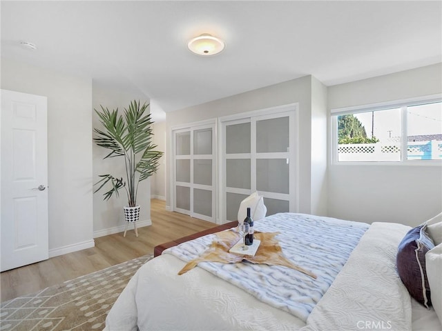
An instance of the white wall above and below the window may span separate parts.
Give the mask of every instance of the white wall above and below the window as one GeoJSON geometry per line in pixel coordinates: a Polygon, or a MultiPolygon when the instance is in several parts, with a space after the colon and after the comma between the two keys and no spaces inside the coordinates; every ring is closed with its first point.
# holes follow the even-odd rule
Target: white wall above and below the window
{"type": "MultiPolygon", "coordinates": [[[[442,91],[442,64],[331,86],[329,109],[422,97],[442,91]]],[[[442,211],[442,168],[329,165],[329,216],[410,226],[442,211]]]]}

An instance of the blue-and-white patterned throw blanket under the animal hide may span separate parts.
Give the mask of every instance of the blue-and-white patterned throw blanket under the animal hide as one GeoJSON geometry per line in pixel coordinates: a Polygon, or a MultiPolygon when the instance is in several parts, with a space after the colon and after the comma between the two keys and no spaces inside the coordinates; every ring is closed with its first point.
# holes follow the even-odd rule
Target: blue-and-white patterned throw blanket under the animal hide
{"type": "MultiPolygon", "coordinates": [[[[316,274],[317,279],[278,265],[202,262],[198,266],[306,321],[368,227],[366,223],[294,213],[275,214],[255,222],[256,231],[280,232],[276,239],[285,257],[316,274]]],[[[209,234],[164,250],[163,254],[188,262],[208,249],[213,239],[215,234],[209,234]]]]}

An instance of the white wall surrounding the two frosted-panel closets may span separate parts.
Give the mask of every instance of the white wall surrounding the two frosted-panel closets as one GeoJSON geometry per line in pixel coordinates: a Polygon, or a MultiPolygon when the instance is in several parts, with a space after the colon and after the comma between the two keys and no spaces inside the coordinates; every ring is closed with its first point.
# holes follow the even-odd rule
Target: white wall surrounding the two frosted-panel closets
{"type": "MultiPolygon", "coordinates": [[[[323,94],[325,88],[322,84],[315,82],[315,93],[323,94]]],[[[248,112],[251,110],[260,110],[264,108],[271,108],[274,106],[282,106],[289,103],[299,104],[299,132],[298,139],[299,145],[299,188],[300,188],[300,201],[299,211],[312,214],[324,214],[326,212],[327,203],[325,194],[318,189],[322,187],[321,180],[325,179],[325,166],[321,165],[319,168],[314,168],[313,171],[319,169],[318,183],[315,183],[314,199],[311,201],[311,178],[316,176],[316,173],[312,173],[311,168],[311,89],[312,89],[312,77],[306,76],[300,79],[294,79],[283,83],[278,83],[273,86],[267,86],[258,90],[252,90],[241,94],[227,97],[224,99],[218,99],[209,103],[203,103],[202,105],[185,108],[184,110],[178,110],[176,112],[169,112],[166,114],[167,132],[168,132],[168,148],[171,150],[171,139],[169,137],[172,126],[182,125],[184,123],[193,123],[197,121],[203,121],[205,119],[215,119],[217,117],[227,116],[230,114],[238,114],[241,112],[248,112]],[[318,197],[317,194],[320,194],[318,197]],[[320,201],[323,199],[323,201],[320,201]]],[[[323,96],[322,96],[323,98],[323,96]]],[[[323,132],[327,131],[326,123],[326,108],[325,103],[320,101],[315,110],[315,125],[318,125],[318,130],[323,132]],[[322,109],[321,109],[322,108],[322,109]],[[320,113],[322,112],[322,115],[320,113]],[[323,117],[319,121],[320,117],[323,117]]],[[[320,138],[322,141],[323,138],[320,138]]],[[[320,158],[325,159],[327,149],[325,146],[322,148],[323,156],[320,158]]],[[[169,188],[171,178],[170,174],[170,159],[167,162],[166,179],[167,187],[169,188]]],[[[166,194],[166,205],[170,208],[170,192],[166,194]]]]}

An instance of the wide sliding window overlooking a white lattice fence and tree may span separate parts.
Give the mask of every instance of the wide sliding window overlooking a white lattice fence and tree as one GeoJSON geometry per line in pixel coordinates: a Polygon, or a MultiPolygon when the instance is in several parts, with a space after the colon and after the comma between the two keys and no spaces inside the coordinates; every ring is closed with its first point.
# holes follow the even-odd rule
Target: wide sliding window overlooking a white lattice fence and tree
{"type": "Polygon", "coordinates": [[[332,110],[334,160],[442,160],[441,99],[332,110]]]}

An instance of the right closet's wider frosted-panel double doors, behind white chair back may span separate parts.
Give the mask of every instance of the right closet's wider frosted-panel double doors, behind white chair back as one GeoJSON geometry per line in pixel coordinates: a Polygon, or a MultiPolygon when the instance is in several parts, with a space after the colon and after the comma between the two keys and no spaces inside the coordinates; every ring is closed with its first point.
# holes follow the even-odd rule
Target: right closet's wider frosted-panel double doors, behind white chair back
{"type": "Polygon", "coordinates": [[[224,217],[237,219],[251,192],[264,197],[267,216],[296,211],[294,112],[223,123],[224,217]]]}

